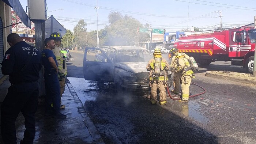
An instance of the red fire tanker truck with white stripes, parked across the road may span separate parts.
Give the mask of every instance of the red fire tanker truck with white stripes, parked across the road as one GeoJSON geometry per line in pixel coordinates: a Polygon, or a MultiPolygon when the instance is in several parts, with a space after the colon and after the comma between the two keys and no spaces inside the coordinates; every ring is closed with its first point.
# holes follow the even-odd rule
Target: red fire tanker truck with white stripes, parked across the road
{"type": "Polygon", "coordinates": [[[240,27],[182,37],[174,43],[174,47],[194,57],[200,65],[209,65],[213,61],[231,61],[231,67],[245,68],[252,73],[255,39],[256,29],[240,27]]]}

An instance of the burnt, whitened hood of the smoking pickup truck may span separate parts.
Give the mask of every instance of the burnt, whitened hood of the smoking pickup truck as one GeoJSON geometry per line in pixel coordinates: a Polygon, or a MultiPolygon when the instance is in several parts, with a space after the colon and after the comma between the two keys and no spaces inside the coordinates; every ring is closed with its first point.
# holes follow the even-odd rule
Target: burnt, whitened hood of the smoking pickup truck
{"type": "Polygon", "coordinates": [[[132,73],[138,73],[148,72],[146,68],[147,64],[147,62],[118,62],[115,64],[115,67],[119,67],[132,73]]]}

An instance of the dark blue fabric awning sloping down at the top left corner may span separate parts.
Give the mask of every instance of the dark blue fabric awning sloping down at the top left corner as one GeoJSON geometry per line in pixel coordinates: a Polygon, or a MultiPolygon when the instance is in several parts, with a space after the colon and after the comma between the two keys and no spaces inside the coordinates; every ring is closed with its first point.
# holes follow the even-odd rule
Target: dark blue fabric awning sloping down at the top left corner
{"type": "Polygon", "coordinates": [[[20,4],[19,0],[2,0],[4,3],[9,5],[19,16],[22,22],[31,29],[31,23],[29,16],[27,16],[26,12],[23,10],[22,5],[20,4]]]}

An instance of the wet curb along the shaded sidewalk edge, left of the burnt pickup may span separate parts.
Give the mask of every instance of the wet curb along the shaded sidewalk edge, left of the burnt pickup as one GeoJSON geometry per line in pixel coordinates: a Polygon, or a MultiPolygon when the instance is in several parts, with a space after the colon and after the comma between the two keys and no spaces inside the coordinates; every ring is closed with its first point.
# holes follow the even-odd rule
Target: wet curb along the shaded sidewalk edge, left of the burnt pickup
{"type": "Polygon", "coordinates": [[[105,144],[101,135],[99,134],[98,130],[96,129],[95,125],[89,118],[89,116],[86,113],[86,110],[84,109],[82,101],[79,99],[78,95],[76,94],[73,86],[69,82],[68,79],[65,80],[66,84],[68,86],[69,91],[71,92],[71,95],[75,99],[76,105],[78,106],[78,111],[82,115],[82,118],[84,119],[84,124],[86,125],[87,129],[89,130],[89,133],[91,137],[93,138],[93,141],[96,144],[105,144]]]}

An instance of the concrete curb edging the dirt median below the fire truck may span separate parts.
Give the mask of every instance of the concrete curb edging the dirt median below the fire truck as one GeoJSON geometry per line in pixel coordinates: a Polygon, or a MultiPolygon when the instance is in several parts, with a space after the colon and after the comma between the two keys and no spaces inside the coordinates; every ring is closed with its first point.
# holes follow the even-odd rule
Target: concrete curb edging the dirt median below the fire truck
{"type": "Polygon", "coordinates": [[[242,78],[239,78],[239,77],[215,74],[215,73],[211,73],[210,71],[207,71],[205,75],[208,76],[208,77],[215,77],[215,78],[218,78],[218,79],[228,79],[228,80],[232,80],[232,81],[235,81],[235,82],[256,85],[256,80],[242,79],[242,78]]]}

